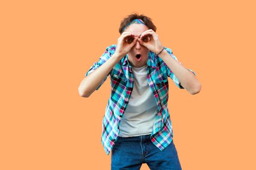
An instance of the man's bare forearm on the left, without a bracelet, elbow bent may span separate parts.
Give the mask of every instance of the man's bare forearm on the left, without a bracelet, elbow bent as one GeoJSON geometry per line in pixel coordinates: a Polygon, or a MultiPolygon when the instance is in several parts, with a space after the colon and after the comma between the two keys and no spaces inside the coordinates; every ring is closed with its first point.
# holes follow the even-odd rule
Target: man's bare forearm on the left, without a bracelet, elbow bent
{"type": "Polygon", "coordinates": [[[78,88],[79,95],[89,97],[120,59],[120,56],[114,53],[104,64],[84,77],[78,88]]]}

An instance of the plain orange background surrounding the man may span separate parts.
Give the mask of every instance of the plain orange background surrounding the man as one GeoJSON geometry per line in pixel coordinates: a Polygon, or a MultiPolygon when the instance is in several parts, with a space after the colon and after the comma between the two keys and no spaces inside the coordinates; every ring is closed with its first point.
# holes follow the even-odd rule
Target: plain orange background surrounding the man
{"type": "MultiPolygon", "coordinates": [[[[0,169],[110,170],[100,142],[110,80],[78,87],[123,17],[153,19],[162,44],[194,70],[191,95],[169,81],[183,170],[255,170],[253,0],[0,2],[0,169]]],[[[171,79],[170,79],[171,80],[171,79]]],[[[141,170],[149,170],[146,164],[141,170]]]]}

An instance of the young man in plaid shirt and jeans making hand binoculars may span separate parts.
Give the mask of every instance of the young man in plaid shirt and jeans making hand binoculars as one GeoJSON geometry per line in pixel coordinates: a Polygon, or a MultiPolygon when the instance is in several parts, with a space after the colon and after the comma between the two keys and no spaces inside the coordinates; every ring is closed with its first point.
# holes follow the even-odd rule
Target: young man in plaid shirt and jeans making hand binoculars
{"type": "Polygon", "coordinates": [[[151,18],[131,14],[120,24],[117,45],[107,47],[87,71],[79,94],[89,97],[111,79],[111,96],[102,121],[101,142],[111,154],[111,169],[180,170],[167,108],[168,77],[197,94],[196,74],[164,47],[151,18]]]}

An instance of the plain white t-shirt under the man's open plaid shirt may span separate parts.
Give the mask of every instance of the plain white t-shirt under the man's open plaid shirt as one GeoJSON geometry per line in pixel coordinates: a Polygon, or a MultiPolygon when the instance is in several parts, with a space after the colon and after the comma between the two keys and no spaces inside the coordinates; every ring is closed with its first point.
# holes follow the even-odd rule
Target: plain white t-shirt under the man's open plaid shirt
{"type": "Polygon", "coordinates": [[[158,106],[147,81],[147,65],[132,67],[134,88],[119,123],[121,137],[149,135],[157,117],[158,106]]]}

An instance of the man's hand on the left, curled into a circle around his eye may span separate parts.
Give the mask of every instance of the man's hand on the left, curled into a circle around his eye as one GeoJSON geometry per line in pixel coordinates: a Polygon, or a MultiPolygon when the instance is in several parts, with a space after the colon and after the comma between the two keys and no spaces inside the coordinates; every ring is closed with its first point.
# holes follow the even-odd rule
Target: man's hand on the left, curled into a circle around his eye
{"type": "Polygon", "coordinates": [[[126,55],[136,44],[138,37],[130,32],[123,32],[118,38],[118,44],[115,53],[120,59],[126,55]]]}

